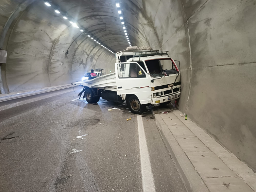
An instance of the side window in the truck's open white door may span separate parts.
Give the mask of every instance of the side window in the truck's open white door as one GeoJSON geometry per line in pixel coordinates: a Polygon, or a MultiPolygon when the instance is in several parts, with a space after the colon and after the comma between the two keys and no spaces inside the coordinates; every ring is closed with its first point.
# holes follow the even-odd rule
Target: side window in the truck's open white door
{"type": "Polygon", "coordinates": [[[118,64],[119,78],[145,78],[146,74],[136,63],[118,64]]]}

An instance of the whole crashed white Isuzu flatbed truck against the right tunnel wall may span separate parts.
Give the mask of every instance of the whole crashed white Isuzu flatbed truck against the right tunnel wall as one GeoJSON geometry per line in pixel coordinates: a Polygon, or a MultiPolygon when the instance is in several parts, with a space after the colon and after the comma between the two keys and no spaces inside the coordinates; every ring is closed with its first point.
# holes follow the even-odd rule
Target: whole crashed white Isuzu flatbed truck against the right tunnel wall
{"type": "Polygon", "coordinates": [[[147,105],[168,104],[180,98],[180,71],[168,51],[121,51],[116,59],[115,73],[72,83],[84,87],[78,96],[84,92],[88,103],[97,103],[100,97],[118,103],[126,101],[134,114],[141,114],[147,105]]]}

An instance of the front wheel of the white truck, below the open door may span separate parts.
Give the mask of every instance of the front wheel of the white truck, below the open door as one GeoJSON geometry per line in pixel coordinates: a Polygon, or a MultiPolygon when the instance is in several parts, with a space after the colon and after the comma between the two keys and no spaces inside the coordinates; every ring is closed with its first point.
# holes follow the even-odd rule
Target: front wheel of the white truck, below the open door
{"type": "Polygon", "coordinates": [[[126,100],[126,105],[133,114],[137,115],[142,114],[146,109],[146,105],[141,105],[139,99],[135,95],[131,95],[131,97],[126,100]]]}

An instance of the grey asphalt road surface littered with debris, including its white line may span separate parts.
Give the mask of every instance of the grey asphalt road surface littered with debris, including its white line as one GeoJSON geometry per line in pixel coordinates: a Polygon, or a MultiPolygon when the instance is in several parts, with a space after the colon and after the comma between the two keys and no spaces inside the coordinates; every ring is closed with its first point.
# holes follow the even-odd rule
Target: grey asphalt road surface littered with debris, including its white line
{"type": "Polygon", "coordinates": [[[81,89],[0,103],[1,192],[186,192],[149,110],[88,104],[81,89]]]}

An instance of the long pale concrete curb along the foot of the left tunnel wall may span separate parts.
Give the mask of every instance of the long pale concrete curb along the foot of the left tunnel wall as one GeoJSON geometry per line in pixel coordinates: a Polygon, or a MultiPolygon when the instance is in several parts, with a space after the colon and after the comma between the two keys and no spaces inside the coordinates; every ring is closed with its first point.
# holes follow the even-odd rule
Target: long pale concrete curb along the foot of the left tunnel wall
{"type": "Polygon", "coordinates": [[[46,93],[46,92],[50,92],[50,91],[66,89],[66,88],[70,88],[73,86],[75,86],[75,85],[67,84],[67,85],[59,85],[59,86],[54,86],[54,87],[46,87],[46,88],[42,88],[42,89],[38,89],[38,90],[31,90],[31,91],[27,91],[27,92],[21,91],[21,93],[10,93],[7,95],[3,94],[4,96],[1,96],[1,94],[0,94],[0,102],[12,100],[12,99],[18,99],[18,98],[22,98],[22,97],[28,97],[31,95],[46,93]]]}

